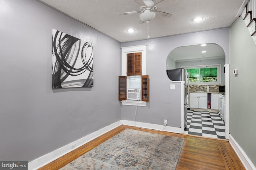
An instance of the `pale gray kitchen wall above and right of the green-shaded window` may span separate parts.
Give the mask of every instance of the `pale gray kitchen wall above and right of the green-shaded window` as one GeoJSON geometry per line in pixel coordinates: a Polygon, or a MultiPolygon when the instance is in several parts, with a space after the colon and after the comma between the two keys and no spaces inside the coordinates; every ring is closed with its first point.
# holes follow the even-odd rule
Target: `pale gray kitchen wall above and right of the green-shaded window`
{"type": "Polygon", "coordinates": [[[221,84],[225,84],[225,73],[224,73],[224,64],[225,58],[223,59],[210,59],[210,60],[198,60],[198,61],[184,61],[184,62],[176,62],[177,68],[181,66],[200,66],[205,64],[221,64],[220,72],[221,72],[221,84]]]}

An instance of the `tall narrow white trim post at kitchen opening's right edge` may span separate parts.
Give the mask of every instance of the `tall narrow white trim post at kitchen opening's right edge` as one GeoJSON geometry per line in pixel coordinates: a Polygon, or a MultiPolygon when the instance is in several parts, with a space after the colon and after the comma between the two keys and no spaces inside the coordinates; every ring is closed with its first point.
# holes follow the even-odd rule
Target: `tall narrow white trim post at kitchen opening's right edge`
{"type": "Polygon", "coordinates": [[[226,100],[226,107],[225,107],[225,133],[226,139],[229,139],[229,64],[225,64],[225,100],[226,100]]]}

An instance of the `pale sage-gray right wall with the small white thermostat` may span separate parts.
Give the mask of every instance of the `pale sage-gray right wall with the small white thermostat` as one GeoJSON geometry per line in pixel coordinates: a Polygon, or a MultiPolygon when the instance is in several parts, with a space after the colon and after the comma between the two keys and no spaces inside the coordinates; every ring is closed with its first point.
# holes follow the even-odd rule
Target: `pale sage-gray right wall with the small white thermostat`
{"type": "Polygon", "coordinates": [[[256,46],[240,18],[230,29],[230,134],[256,166],[256,46]],[[238,69],[238,75],[233,70],[238,69]]]}

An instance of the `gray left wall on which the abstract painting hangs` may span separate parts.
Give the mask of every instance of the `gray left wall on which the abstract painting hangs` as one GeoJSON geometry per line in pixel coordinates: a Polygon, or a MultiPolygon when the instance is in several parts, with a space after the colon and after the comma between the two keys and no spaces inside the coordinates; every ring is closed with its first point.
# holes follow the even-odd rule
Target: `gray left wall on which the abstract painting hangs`
{"type": "Polygon", "coordinates": [[[121,119],[118,41],[35,0],[0,4],[0,160],[32,161],[121,119]],[[52,90],[52,29],[93,43],[93,88],[52,90]]]}

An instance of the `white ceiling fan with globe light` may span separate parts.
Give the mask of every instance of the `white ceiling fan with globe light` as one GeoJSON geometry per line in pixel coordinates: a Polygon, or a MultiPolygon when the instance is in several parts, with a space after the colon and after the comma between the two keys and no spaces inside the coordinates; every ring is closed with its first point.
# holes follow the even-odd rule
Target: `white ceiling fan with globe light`
{"type": "MultiPolygon", "coordinates": [[[[164,0],[160,0],[156,4],[158,4],[162,1],[164,1],[164,0]]],[[[160,13],[167,18],[172,16],[172,14],[169,14],[167,12],[158,11],[157,7],[155,6],[156,5],[155,2],[152,0],[135,0],[135,2],[140,6],[140,11],[122,12],[122,13],[119,13],[119,15],[141,13],[140,19],[142,21],[140,23],[144,23],[144,22],[149,23],[150,21],[152,21],[155,18],[156,13],[160,13]]]]}

